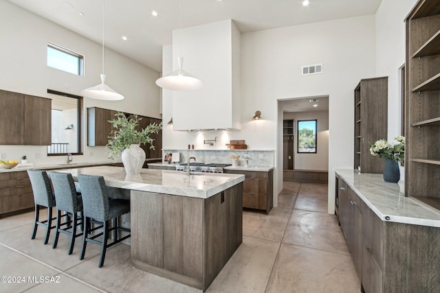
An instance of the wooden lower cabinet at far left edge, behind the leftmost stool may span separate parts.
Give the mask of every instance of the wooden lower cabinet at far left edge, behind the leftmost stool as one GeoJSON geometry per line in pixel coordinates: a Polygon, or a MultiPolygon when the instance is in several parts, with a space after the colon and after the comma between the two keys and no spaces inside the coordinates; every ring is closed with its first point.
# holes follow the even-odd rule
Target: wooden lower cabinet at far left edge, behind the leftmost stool
{"type": "Polygon", "coordinates": [[[0,214],[34,207],[28,172],[0,173],[0,214]]]}

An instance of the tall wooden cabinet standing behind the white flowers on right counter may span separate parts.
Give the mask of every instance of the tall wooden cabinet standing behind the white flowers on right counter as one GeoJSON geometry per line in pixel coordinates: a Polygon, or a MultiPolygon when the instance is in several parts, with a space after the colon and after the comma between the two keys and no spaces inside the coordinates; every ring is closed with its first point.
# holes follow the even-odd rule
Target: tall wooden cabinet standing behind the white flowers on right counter
{"type": "Polygon", "coordinates": [[[355,169],[362,173],[382,173],[384,161],[370,154],[370,145],[387,139],[388,78],[361,80],[355,89],[355,169]]]}

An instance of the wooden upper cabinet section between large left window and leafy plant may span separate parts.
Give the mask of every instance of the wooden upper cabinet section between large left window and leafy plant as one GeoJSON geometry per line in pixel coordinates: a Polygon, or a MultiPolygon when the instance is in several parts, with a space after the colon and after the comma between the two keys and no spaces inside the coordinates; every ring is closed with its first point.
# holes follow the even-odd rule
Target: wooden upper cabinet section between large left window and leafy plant
{"type": "Polygon", "coordinates": [[[115,117],[118,111],[103,108],[87,108],[87,145],[105,146],[109,141],[109,136],[113,126],[109,120],[115,117]]]}

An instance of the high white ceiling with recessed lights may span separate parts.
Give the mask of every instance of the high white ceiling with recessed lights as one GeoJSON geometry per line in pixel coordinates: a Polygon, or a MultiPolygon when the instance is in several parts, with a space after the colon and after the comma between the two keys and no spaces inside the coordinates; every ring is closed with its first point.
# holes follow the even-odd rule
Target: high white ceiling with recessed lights
{"type": "MultiPolygon", "coordinates": [[[[102,43],[103,1],[8,1],[102,43]]],[[[232,19],[240,32],[255,32],[375,14],[382,0],[309,1],[303,6],[302,0],[181,0],[181,26],[232,19]]],[[[105,46],[161,72],[162,46],[171,45],[172,31],[179,28],[179,0],[105,0],[104,12],[105,46]]]]}

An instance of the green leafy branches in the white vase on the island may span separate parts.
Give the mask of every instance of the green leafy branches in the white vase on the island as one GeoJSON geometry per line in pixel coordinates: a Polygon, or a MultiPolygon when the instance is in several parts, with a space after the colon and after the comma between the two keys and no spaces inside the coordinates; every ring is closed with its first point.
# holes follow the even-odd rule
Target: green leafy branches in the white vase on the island
{"type": "Polygon", "coordinates": [[[154,150],[154,139],[150,137],[152,133],[159,133],[162,129],[162,122],[159,124],[153,123],[146,126],[146,128],[138,130],[139,121],[142,118],[134,115],[133,117],[126,117],[122,112],[115,114],[113,120],[108,122],[113,126],[110,132],[109,142],[105,148],[110,152],[109,158],[114,159],[114,154],[119,154],[132,144],[142,145],[150,144],[150,149],[154,150]]]}

